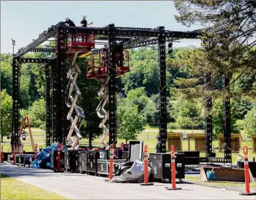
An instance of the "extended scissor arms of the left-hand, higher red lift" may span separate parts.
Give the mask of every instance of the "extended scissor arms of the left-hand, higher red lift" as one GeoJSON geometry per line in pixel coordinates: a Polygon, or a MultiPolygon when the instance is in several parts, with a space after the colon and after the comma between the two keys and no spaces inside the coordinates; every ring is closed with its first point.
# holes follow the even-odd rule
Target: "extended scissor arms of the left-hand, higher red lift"
{"type": "Polygon", "coordinates": [[[80,134],[80,128],[84,121],[84,110],[77,106],[77,99],[81,96],[81,91],[77,87],[77,77],[81,73],[75,60],[77,59],[79,51],[74,54],[72,63],[69,65],[69,70],[67,73],[67,78],[69,78],[69,84],[67,88],[67,106],[69,107],[68,116],[66,117],[71,122],[71,128],[68,133],[67,140],[71,142],[72,149],[78,149],[78,141],[82,139],[80,134]],[[72,96],[72,91],[75,89],[75,97],[72,96]],[[72,117],[72,113],[75,110],[75,119],[72,117]],[[72,138],[72,133],[75,130],[75,139],[72,138]]]}

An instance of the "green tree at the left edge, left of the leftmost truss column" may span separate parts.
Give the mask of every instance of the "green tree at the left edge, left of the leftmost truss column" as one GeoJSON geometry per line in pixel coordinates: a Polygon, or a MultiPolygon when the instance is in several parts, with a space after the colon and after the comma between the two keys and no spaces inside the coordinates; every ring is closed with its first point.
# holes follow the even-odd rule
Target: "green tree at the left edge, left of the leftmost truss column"
{"type": "Polygon", "coordinates": [[[7,90],[1,91],[1,141],[4,136],[11,134],[12,100],[7,90]]]}

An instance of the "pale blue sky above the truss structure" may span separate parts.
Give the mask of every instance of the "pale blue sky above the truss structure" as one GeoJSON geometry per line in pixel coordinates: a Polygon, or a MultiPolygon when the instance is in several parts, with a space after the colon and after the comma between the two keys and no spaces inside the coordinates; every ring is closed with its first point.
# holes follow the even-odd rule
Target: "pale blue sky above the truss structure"
{"type": "MultiPolygon", "coordinates": [[[[53,24],[69,16],[77,26],[87,15],[94,27],[114,23],[115,26],[165,26],[169,30],[193,30],[177,23],[172,1],[1,1],[1,53],[12,53],[11,38],[16,40],[14,53],[53,24]]],[[[174,47],[200,45],[199,40],[182,39],[174,47]]]]}

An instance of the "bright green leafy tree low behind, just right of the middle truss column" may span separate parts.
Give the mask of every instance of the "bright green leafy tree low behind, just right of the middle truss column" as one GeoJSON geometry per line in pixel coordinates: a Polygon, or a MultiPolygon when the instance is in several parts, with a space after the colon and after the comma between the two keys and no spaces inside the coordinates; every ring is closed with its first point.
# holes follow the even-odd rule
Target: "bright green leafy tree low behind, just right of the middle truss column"
{"type": "Polygon", "coordinates": [[[117,107],[117,130],[118,138],[136,140],[143,128],[143,116],[138,113],[138,106],[122,104],[117,107]]]}

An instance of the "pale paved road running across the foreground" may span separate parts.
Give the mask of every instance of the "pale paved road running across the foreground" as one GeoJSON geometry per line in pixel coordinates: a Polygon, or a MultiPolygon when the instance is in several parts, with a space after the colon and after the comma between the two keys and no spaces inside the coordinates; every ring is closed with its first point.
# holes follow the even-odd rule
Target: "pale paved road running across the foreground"
{"type": "MultiPolygon", "coordinates": [[[[194,184],[177,184],[182,190],[166,190],[166,184],[139,186],[138,183],[108,183],[106,178],[77,173],[1,164],[1,173],[56,192],[69,199],[256,199],[238,192],[194,184]]],[[[169,185],[169,184],[168,184],[169,185]]]]}

